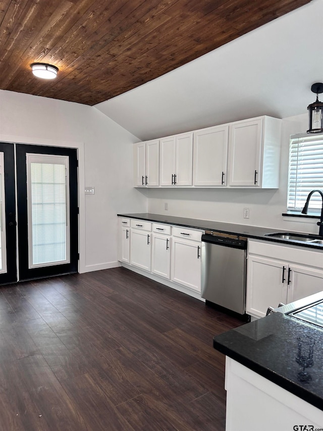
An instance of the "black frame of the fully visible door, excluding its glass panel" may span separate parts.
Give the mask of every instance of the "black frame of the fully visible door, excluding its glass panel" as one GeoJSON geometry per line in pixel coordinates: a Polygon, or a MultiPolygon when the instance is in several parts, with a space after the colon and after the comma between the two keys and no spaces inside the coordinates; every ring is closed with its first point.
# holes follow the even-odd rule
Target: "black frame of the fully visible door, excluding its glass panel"
{"type": "Polygon", "coordinates": [[[77,149],[16,144],[17,208],[18,208],[18,262],[19,280],[48,277],[78,271],[78,174],[77,149]],[[39,268],[28,267],[28,212],[26,153],[51,154],[69,157],[70,189],[70,263],[39,268]]]}

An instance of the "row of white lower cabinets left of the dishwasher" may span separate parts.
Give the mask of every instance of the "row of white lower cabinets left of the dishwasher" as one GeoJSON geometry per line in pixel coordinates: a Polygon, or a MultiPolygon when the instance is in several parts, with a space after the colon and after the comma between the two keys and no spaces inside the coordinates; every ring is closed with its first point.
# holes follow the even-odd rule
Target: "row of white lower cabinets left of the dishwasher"
{"type": "Polygon", "coordinates": [[[118,260],[157,275],[160,282],[164,279],[173,288],[178,289],[176,284],[180,284],[188,291],[178,290],[199,297],[202,233],[186,227],[119,217],[118,260]]]}

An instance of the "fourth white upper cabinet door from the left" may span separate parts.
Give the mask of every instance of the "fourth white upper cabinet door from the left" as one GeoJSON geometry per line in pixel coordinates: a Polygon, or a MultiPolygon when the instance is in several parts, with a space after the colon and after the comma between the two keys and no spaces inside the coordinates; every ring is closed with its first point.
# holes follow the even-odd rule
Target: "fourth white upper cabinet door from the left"
{"type": "Polygon", "coordinates": [[[176,185],[192,185],[193,133],[176,136],[176,185]]]}

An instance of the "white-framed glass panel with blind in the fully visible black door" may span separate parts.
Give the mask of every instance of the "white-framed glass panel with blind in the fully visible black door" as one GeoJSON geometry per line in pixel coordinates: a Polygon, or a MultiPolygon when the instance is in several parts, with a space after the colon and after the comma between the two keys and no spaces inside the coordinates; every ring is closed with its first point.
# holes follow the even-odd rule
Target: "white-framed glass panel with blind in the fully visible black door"
{"type": "Polygon", "coordinates": [[[69,262],[68,157],[27,153],[29,268],[69,262]]]}

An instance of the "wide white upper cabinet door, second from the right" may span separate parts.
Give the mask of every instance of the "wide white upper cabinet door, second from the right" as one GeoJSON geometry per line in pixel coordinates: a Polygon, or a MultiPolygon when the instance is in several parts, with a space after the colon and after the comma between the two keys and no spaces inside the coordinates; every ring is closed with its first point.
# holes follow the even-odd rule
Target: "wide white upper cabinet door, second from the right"
{"type": "Polygon", "coordinates": [[[194,133],[193,184],[225,186],[227,184],[229,126],[212,127],[194,133]]]}

